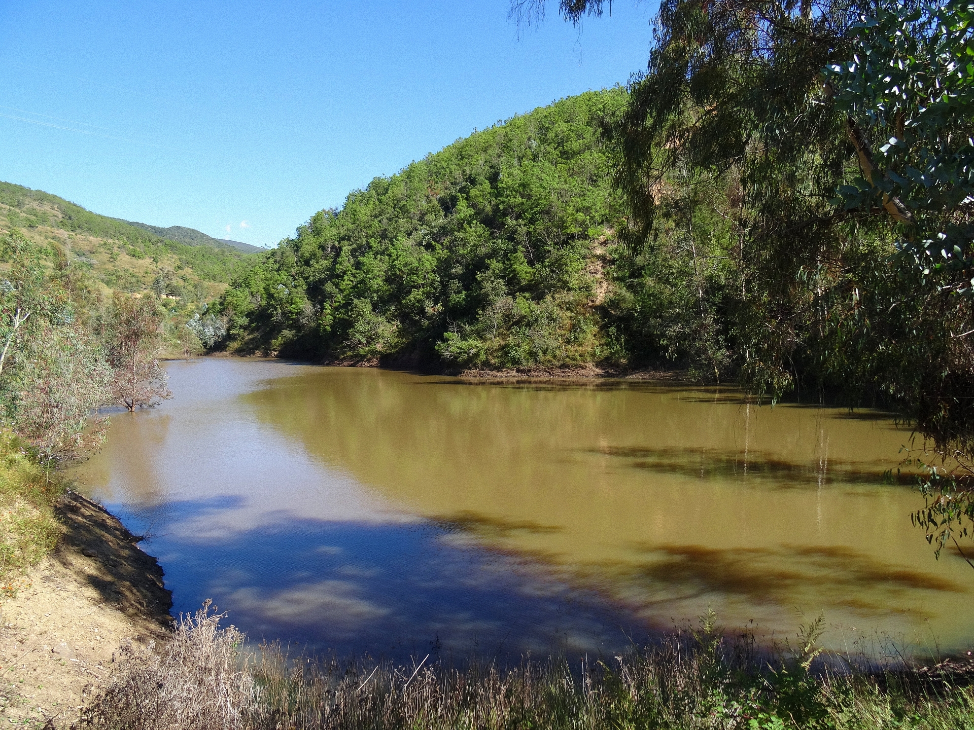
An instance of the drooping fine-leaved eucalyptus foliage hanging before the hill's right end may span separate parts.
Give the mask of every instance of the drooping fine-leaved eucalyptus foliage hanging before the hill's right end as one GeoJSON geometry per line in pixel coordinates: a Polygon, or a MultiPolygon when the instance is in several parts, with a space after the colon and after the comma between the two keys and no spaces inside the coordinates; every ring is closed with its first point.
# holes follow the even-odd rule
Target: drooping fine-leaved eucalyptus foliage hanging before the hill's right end
{"type": "MultiPolygon", "coordinates": [[[[660,231],[693,238],[684,211],[701,202],[719,210],[726,242],[714,253],[736,279],[718,292],[734,365],[775,399],[823,384],[812,352],[827,318],[819,302],[850,258],[877,245],[859,237],[848,250],[854,216],[830,202],[849,154],[821,73],[846,54],[856,2],[663,0],[647,69],[611,130],[631,213],[620,235],[634,254],[661,245],[660,231]]],[[[517,1],[512,12],[540,18],[543,6],[517,1]]],[[[558,7],[580,22],[611,5],[558,7]]]]}

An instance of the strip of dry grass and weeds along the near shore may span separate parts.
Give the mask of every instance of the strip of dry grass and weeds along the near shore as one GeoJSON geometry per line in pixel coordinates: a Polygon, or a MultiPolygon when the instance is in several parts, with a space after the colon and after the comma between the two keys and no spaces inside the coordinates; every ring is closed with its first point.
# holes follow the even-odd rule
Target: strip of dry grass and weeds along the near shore
{"type": "MultiPolygon", "coordinates": [[[[970,668],[828,671],[819,626],[771,655],[696,631],[573,664],[451,668],[288,659],[244,648],[206,607],[165,646],[128,649],[82,727],[159,728],[974,728],[970,668]]],[[[838,666],[838,662],[836,663],[838,666]]]]}

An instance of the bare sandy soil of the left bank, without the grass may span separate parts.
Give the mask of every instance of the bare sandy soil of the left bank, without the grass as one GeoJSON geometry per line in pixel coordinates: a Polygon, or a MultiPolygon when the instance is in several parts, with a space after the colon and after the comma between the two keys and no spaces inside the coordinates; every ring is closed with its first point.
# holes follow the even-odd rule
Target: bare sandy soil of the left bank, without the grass
{"type": "MultiPolygon", "coordinates": [[[[0,721],[68,727],[126,641],[165,639],[163,569],[104,508],[66,493],[56,551],[0,598],[0,721]]],[[[6,722],[3,722],[6,725],[6,722]]]]}

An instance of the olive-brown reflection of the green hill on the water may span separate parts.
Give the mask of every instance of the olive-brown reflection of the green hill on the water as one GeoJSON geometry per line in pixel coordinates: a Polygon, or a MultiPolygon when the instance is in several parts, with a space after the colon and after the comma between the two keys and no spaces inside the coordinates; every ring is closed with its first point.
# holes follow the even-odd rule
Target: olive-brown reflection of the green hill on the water
{"type": "Polygon", "coordinates": [[[464,384],[322,369],[242,396],[393,505],[532,558],[655,621],[832,623],[967,636],[971,581],[880,484],[909,434],[653,383],[464,384]],[[928,623],[927,623],[928,620],[928,623]]]}

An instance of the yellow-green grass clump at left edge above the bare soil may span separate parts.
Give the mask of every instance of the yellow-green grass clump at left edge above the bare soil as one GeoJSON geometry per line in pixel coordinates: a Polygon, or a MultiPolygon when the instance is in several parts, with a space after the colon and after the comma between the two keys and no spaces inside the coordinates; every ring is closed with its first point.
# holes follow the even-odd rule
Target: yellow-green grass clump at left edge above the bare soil
{"type": "Polygon", "coordinates": [[[55,502],[63,482],[40,465],[17,436],[0,430],[0,591],[54,550],[60,535],[55,502]]]}

